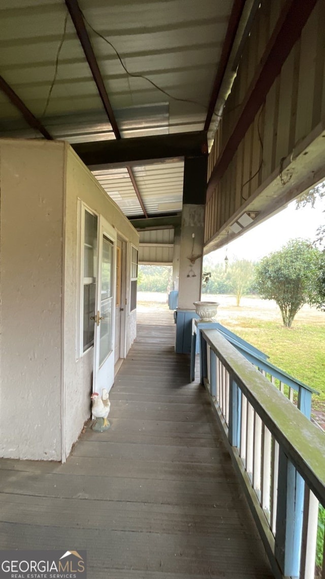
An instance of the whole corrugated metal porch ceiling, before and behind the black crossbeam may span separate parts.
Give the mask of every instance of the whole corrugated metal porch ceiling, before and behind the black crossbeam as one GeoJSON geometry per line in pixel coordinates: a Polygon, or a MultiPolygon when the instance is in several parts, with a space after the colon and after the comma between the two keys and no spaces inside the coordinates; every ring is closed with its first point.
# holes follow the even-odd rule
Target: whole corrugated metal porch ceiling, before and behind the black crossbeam
{"type": "MultiPolygon", "coordinates": [[[[203,129],[233,4],[80,0],[122,138],[203,129]]],[[[1,1],[0,75],[52,137],[115,138],[64,0],[1,1]]],[[[2,91],[0,137],[42,138],[2,91]]],[[[182,162],[132,170],[149,214],[181,209],[182,162]]],[[[126,215],[143,214],[127,170],[94,174],[126,215]]]]}

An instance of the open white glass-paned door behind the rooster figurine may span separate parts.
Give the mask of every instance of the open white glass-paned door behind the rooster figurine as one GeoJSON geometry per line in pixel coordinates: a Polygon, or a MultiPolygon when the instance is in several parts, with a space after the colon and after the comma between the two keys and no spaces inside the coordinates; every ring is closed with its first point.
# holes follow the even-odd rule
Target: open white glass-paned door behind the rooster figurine
{"type": "Polygon", "coordinates": [[[116,232],[99,220],[97,313],[95,313],[93,391],[101,395],[114,382],[116,232]]]}

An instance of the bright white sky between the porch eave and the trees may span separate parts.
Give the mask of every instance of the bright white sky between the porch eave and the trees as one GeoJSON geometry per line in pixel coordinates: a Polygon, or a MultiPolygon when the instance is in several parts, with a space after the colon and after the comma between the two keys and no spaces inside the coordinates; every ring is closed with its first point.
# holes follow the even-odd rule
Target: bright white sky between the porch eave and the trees
{"type": "MultiPolygon", "coordinates": [[[[227,246],[227,256],[231,259],[249,259],[258,261],[272,251],[278,251],[290,239],[300,237],[311,239],[316,236],[316,229],[325,222],[325,197],[319,199],[315,207],[296,209],[296,201],[257,225],[227,246]]],[[[223,263],[226,255],[226,245],[208,254],[213,263],[223,263]]]]}

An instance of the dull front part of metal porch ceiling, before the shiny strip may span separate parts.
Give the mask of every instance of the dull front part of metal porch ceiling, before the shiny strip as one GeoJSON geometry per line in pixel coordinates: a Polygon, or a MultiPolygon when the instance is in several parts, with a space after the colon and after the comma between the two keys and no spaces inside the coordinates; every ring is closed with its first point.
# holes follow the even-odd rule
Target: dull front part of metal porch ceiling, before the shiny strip
{"type": "MultiPolygon", "coordinates": [[[[175,101],[147,80],[128,76],[112,47],[87,27],[113,109],[164,103],[170,132],[202,129],[231,5],[231,0],[202,0],[198,10],[197,0],[80,0],[87,21],[113,43],[128,71],[148,76],[172,96],[198,103],[175,101]]],[[[56,116],[61,126],[64,117],[69,126],[70,115],[82,113],[91,122],[93,113],[102,112],[68,17],[57,79],[43,115],[66,13],[62,0],[1,2],[1,75],[45,126],[49,120],[53,126],[56,116]]],[[[0,111],[1,122],[20,119],[2,93],[0,111]]],[[[0,129],[3,134],[2,125],[0,129]]],[[[62,131],[60,138],[65,138],[62,131]]]]}

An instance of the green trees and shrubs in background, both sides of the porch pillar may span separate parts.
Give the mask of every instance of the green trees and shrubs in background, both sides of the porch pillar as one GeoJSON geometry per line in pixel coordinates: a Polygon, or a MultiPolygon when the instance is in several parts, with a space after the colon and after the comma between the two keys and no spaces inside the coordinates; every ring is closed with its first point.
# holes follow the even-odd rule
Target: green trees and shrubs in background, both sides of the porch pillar
{"type": "MultiPolygon", "coordinates": [[[[171,279],[170,266],[141,266],[138,290],[170,291],[171,279]]],[[[202,297],[234,294],[237,306],[248,294],[274,300],[283,325],[290,328],[305,303],[325,310],[325,252],[308,240],[293,239],[258,263],[235,259],[228,266],[212,265],[208,258],[202,285],[202,297]]]]}

